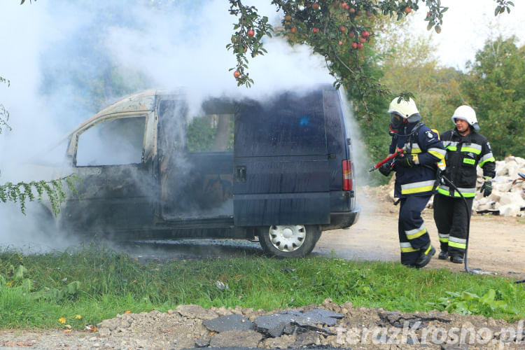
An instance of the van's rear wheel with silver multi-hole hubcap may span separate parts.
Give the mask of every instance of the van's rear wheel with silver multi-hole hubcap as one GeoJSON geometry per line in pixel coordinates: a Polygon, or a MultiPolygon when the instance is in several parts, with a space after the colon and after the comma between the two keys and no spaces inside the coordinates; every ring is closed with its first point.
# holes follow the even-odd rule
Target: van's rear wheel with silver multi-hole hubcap
{"type": "Polygon", "coordinates": [[[277,258],[301,258],[314,249],[321,230],[316,225],[272,225],[258,230],[260,246],[277,258]]]}

